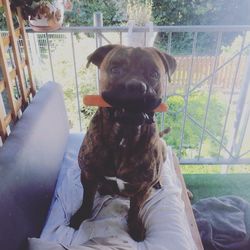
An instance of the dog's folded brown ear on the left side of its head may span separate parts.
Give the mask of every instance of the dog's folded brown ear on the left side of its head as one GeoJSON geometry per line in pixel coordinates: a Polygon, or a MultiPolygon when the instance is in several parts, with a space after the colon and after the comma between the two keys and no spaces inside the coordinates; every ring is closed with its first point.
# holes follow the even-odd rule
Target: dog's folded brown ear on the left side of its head
{"type": "Polygon", "coordinates": [[[104,57],[108,54],[108,52],[118,46],[120,45],[110,44],[96,49],[92,54],[90,54],[87,57],[88,59],[87,68],[89,67],[90,63],[95,64],[99,68],[104,57]]]}

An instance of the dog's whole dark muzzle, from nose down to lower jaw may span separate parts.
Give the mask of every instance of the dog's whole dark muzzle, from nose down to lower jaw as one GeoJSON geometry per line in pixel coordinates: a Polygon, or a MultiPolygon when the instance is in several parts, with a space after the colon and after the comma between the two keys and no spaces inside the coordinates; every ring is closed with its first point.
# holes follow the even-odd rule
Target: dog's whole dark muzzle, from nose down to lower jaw
{"type": "Polygon", "coordinates": [[[105,90],[102,97],[112,106],[110,114],[114,121],[133,126],[153,123],[153,110],[161,103],[155,91],[138,79],[105,90]]]}

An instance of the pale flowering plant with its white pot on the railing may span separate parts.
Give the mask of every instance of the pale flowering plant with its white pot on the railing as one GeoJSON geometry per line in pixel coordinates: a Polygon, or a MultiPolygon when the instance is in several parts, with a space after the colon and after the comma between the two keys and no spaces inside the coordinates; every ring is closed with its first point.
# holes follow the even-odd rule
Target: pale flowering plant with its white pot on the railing
{"type": "Polygon", "coordinates": [[[152,0],[129,0],[127,4],[128,33],[124,34],[124,44],[128,46],[153,46],[156,32],[153,32],[152,0]],[[147,27],[149,32],[134,32],[134,27],[147,27]]]}

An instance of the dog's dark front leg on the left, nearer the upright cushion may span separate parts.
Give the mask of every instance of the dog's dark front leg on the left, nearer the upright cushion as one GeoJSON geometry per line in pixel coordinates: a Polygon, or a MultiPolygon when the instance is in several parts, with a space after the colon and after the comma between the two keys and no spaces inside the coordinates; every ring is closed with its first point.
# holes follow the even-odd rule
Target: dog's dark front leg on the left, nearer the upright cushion
{"type": "Polygon", "coordinates": [[[91,217],[97,190],[97,181],[85,178],[84,174],[81,174],[81,182],[83,185],[83,202],[78,211],[70,219],[70,226],[75,229],[80,227],[82,221],[91,217]]]}

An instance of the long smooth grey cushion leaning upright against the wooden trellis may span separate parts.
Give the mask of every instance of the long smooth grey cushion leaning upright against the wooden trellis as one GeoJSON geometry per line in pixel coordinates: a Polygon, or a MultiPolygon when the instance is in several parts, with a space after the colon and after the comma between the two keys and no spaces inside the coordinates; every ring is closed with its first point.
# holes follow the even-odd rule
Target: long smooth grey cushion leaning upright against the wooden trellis
{"type": "Polygon", "coordinates": [[[45,84],[0,148],[0,246],[39,236],[69,134],[61,87],[45,84]]]}

